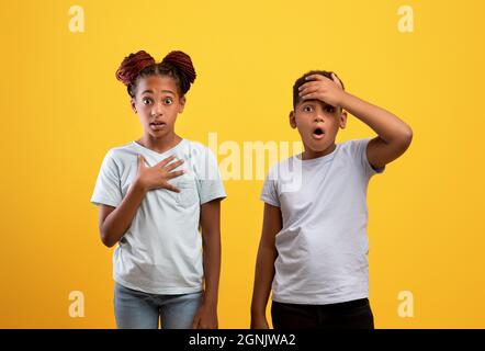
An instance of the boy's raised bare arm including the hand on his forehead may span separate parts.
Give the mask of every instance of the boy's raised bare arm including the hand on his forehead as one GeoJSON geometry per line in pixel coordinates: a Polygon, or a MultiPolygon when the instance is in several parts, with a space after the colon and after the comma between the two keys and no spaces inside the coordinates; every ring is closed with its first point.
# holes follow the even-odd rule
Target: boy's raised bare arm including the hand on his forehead
{"type": "Polygon", "coordinates": [[[342,89],[340,80],[320,75],[307,77],[308,82],[300,89],[302,99],[318,99],[332,106],[340,106],[369,125],[377,137],[366,149],[369,162],[382,168],[406,151],[413,139],[411,128],[391,112],[365,102],[342,89]]]}

